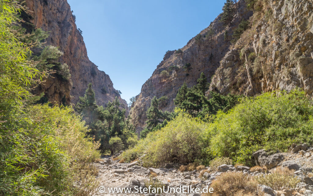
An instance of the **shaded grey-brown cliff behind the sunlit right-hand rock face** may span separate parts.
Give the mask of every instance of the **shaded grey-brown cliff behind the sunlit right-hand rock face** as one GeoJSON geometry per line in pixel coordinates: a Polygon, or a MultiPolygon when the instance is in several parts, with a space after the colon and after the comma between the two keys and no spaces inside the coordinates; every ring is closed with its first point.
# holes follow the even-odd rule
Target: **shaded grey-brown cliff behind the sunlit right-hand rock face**
{"type": "Polygon", "coordinates": [[[175,108],[173,99],[184,82],[188,87],[192,87],[197,83],[201,72],[205,73],[210,82],[210,78],[220,66],[221,59],[229,50],[233,30],[242,19],[249,19],[251,15],[252,11],[245,8],[244,1],[240,1],[238,13],[234,16],[230,27],[225,27],[220,22],[221,16],[218,16],[208,28],[181,48],[182,53],[168,51],[164,55],[163,61],[157,66],[152,76],[142,85],[141,93],[136,96],[136,102],[131,109],[132,121],[137,131],[141,131],[145,126],[146,110],[154,96],[157,98],[167,96],[168,99],[161,109],[172,111],[175,108]],[[212,37],[206,36],[210,28],[213,30],[212,37]],[[226,30],[228,36],[225,39],[226,30]],[[187,63],[190,63],[190,70],[184,68],[187,63]],[[170,76],[162,77],[160,73],[163,70],[168,71],[170,76]]]}

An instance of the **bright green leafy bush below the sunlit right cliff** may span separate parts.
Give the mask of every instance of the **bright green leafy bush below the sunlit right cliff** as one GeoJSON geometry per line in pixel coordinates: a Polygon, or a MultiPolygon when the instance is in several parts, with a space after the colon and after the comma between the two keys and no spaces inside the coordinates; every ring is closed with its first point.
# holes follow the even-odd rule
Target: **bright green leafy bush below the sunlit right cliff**
{"type": "Polygon", "coordinates": [[[286,151],[292,143],[312,144],[312,103],[304,92],[264,93],[245,98],[210,125],[207,151],[253,165],[252,153],[265,148],[286,151]]]}

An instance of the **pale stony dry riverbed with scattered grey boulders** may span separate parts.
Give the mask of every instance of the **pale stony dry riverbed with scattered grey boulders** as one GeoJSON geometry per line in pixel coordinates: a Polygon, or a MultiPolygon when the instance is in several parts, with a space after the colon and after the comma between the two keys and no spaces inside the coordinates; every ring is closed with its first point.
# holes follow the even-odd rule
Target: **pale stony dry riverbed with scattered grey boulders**
{"type": "MultiPolygon", "coordinates": [[[[113,161],[113,157],[103,158],[95,163],[99,168],[98,178],[100,179],[101,189],[94,195],[145,195],[154,196],[158,193],[136,193],[139,187],[144,188],[151,182],[160,182],[166,187],[178,188],[180,186],[190,185],[192,188],[202,188],[210,186],[212,181],[223,172],[243,172],[246,175],[259,176],[268,175],[277,167],[287,167],[294,170],[300,182],[294,190],[273,190],[265,185],[258,185],[259,189],[264,192],[265,196],[293,196],[293,195],[313,195],[313,148],[307,145],[291,146],[289,152],[276,153],[268,155],[264,150],[257,151],[253,154],[256,163],[263,169],[255,171],[250,167],[233,165],[220,165],[217,171],[211,170],[209,167],[204,168],[207,172],[194,170],[192,172],[180,172],[177,166],[167,164],[166,168],[145,168],[139,161],[132,163],[119,163],[119,160],[113,161]],[[265,169],[264,169],[265,168],[265,169]],[[153,174],[153,177],[151,177],[153,174]],[[200,175],[200,176],[199,176],[200,175]],[[137,186],[137,189],[134,189],[137,186]],[[109,188],[131,188],[130,193],[109,193],[109,188]],[[135,193],[132,193],[135,191],[135,193]],[[103,193],[102,193],[103,192],[103,193]]],[[[188,195],[198,196],[198,193],[161,193],[160,195],[188,195]]]]}

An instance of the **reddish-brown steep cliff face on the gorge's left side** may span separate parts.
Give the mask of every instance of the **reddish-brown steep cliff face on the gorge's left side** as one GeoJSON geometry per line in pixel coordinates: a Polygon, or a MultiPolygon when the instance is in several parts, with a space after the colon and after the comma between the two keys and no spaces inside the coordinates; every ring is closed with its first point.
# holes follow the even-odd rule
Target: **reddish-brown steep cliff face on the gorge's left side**
{"type": "MultiPolygon", "coordinates": [[[[88,84],[93,84],[98,105],[105,105],[114,100],[115,96],[127,109],[127,103],[121,99],[120,94],[113,88],[110,77],[103,71],[99,71],[88,56],[83,37],[77,30],[74,17],[66,0],[26,0],[26,4],[33,16],[32,23],[36,28],[49,31],[50,36],[45,41],[48,45],[58,46],[64,55],[60,57],[61,63],[69,66],[71,80],[73,82],[70,90],[72,103],[79,100],[79,96],[85,94],[88,84]]],[[[47,80],[46,89],[51,94],[58,94],[62,86],[56,80],[47,80]]],[[[64,91],[65,94],[69,91],[64,91]]],[[[69,95],[65,95],[69,99],[69,95]]]]}

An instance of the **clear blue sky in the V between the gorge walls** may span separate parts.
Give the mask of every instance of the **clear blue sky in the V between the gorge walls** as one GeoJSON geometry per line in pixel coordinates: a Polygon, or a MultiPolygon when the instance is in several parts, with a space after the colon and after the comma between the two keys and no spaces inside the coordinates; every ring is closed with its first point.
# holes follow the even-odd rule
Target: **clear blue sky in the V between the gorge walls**
{"type": "MultiPolygon", "coordinates": [[[[226,1],[226,0],[225,0],[226,1]]],[[[224,0],[68,0],[89,59],[129,98],[167,50],[182,48],[222,12],[224,0]]]]}

